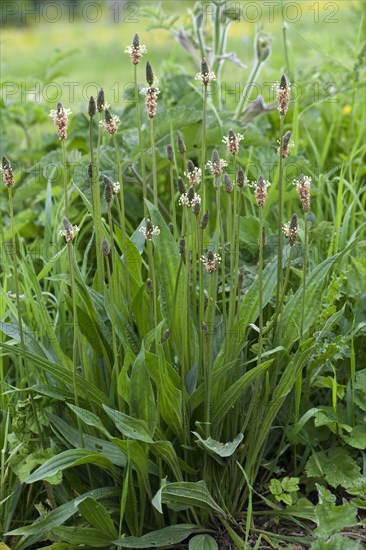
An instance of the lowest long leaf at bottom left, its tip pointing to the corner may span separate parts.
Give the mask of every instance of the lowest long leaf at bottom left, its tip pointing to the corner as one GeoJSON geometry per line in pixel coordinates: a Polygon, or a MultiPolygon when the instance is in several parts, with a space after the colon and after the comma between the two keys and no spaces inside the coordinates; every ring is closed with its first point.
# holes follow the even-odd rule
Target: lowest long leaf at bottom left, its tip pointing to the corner
{"type": "Polygon", "coordinates": [[[102,500],[104,498],[110,498],[113,496],[117,496],[119,494],[119,489],[116,487],[102,487],[100,489],[94,489],[93,491],[88,491],[87,493],[84,493],[83,495],[80,495],[77,498],[74,498],[73,500],[70,500],[66,504],[62,504],[55,510],[52,510],[46,518],[41,520],[36,520],[32,525],[28,525],[25,527],[19,527],[18,529],[14,529],[13,531],[10,531],[9,533],[5,533],[6,535],[14,535],[14,536],[31,536],[31,535],[43,535],[48,533],[53,527],[56,527],[58,525],[61,525],[65,521],[67,521],[69,518],[71,518],[74,514],[78,513],[78,505],[80,502],[85,500],[88,497],[92,497],[96,500],[102,500]]]}

